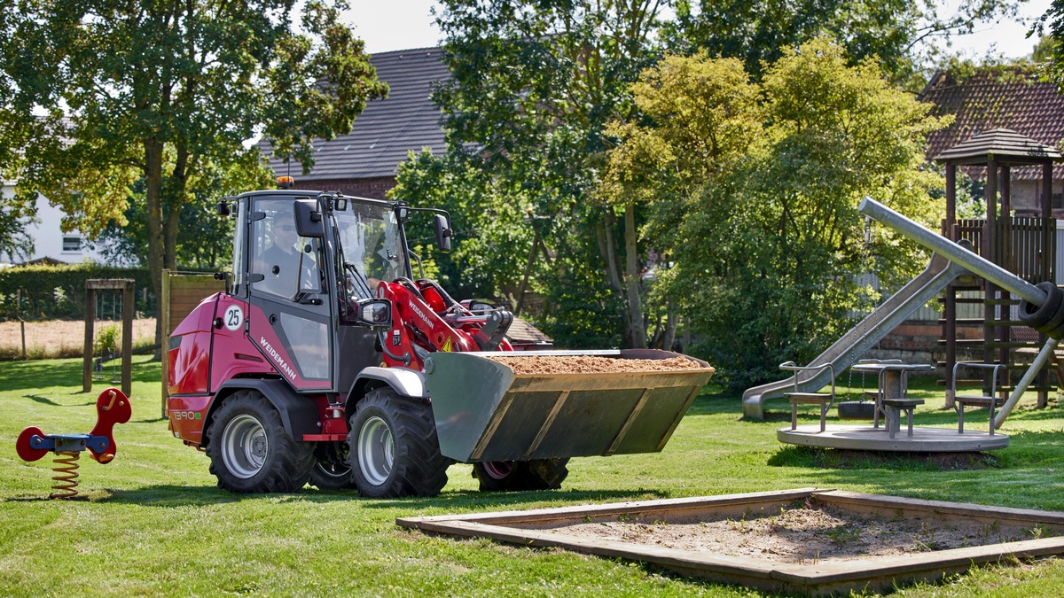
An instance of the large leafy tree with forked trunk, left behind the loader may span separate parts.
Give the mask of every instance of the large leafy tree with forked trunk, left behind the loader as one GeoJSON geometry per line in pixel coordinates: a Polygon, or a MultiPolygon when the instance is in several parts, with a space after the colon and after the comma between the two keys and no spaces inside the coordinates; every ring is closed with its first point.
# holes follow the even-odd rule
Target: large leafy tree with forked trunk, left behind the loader
{"type": "Polygon", "coordinates": [[[16,0],[0,7],[0,137],[18,196],[37,193],[93,238],[144,182],[148,266],[177,264],[180,215],[212,167],[253,170],[243,142],[313,163],[312,140],[347,132],[386,93],[343,0],[16,0]],[[326,83],[328,82],[328,83],[326,83]],[[39,116],[34,116],[37,114],[39,116]]]}

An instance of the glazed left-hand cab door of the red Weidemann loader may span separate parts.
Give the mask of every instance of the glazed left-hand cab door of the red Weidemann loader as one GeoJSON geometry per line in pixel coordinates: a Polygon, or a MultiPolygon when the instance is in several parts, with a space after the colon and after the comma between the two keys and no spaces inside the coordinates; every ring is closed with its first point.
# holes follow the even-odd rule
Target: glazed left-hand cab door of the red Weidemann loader
{"type": "Polygon", "coordinates": [[[326,293],[321,238],[296,231],[295,203],[307,196],[250,198],[249,339],[297,391],[335,391],[333,302],[326,293]]]}

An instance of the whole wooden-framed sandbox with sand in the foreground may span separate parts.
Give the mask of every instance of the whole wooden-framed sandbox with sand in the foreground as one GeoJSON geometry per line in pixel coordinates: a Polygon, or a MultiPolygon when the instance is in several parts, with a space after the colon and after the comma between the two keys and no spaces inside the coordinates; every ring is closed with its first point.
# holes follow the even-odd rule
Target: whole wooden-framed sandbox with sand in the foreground
{"type": "Polygon", "coordinates": [[[890,589],[974,565],[1064,553],[1064,513],[818,488],[396,522],[817,595],[890,589]]]}

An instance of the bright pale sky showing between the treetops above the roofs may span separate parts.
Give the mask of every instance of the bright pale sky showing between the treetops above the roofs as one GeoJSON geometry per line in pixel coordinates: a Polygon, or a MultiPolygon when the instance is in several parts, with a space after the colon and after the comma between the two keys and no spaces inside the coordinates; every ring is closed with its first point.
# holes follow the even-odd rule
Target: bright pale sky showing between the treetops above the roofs
{"type": "MultiPolygon", "coordinates": [[[[959,0],[940,0],[941,16],[949,14],[959,0]]],[[[439,31],[433,24],[430,11],[439,3],[435,0],[349,0],[351,9],[345,14],[355,33],[366,40],[370,53],[410,48],[426,48],[439,44],[439,31]]],[[[1029,0],[1021,9],[1021,18],[1042,15],[1050,0],[1029,0]]],[[[958,37],[952,50],[978,59],[996,50],[1009,59],[1031,53],[1035,38],[1025,38],[1028,27],[1016,21],[984,26],[971,35],[958,37]]]]}

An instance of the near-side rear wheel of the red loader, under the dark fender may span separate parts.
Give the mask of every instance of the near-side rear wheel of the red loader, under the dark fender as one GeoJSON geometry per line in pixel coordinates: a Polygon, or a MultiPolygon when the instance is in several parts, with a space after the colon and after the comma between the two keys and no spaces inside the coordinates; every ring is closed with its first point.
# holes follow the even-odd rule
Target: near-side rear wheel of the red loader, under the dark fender
{"type": "Polygon", "coordinates": [[[206,430],[206,455],[218,487],[234,493],[292,493],[306,484],[314,445],[295,441],[281,414],[255,391],[218,408],[206,430]]]}

